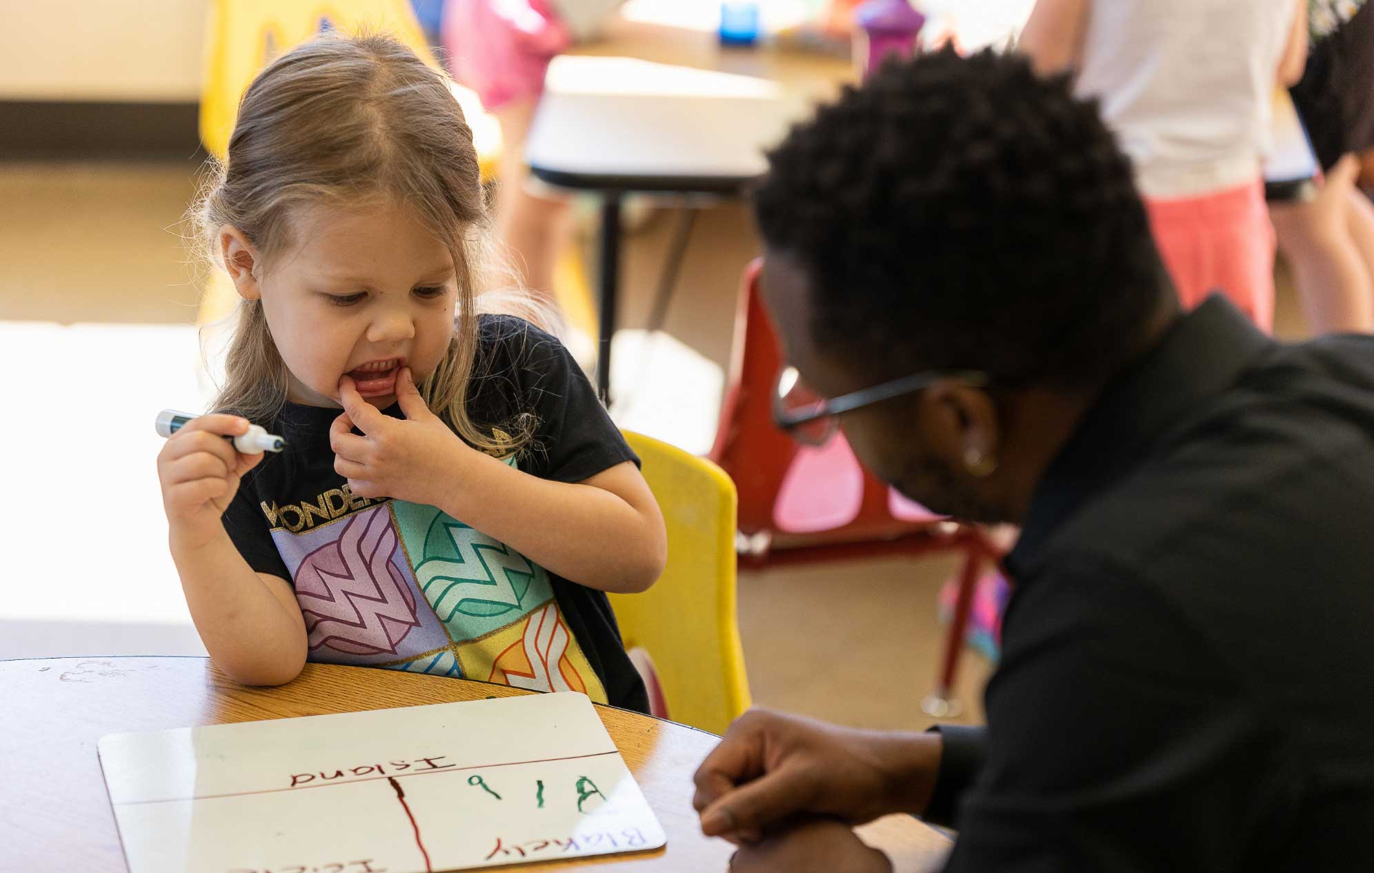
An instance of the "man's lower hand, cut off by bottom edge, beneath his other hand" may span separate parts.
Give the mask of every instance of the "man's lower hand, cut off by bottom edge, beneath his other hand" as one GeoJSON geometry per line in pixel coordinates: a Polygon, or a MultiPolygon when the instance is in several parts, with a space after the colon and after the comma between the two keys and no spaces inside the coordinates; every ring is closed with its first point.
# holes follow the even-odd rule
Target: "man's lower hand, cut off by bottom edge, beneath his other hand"
{"type": "Polygon", "coordinates": [[[892,873],[892,862],[864,846],[849,825],[822,818],[742,846],[730,859],[730,873],[892,873]]]}

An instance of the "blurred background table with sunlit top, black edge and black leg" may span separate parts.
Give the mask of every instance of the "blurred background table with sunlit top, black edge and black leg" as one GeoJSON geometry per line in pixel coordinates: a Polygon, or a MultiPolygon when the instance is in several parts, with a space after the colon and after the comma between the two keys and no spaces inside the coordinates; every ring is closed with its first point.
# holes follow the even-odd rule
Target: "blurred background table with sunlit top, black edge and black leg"
{"type": "Polygon", "coordinates": [[[525,159],[547,184],[602,196],[596,387],[607,401],[622,196],[743,195],[768,169],[764,150],[852,70],[835,58],[721,48],[714,32],[624,19],[572,55],[550,69],[525,159]]]}

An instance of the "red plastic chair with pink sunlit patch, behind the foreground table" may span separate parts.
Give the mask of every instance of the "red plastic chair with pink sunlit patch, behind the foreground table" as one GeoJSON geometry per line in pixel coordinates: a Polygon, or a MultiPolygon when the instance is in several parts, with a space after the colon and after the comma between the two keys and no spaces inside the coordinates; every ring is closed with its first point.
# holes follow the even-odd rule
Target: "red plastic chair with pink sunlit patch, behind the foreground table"
{"type": "Polygon", "coordinates": [[[954,681],[984,561],[999,560],[977,527],[937,516],[864,469],[844,434],[826,446],[801,446],[772,421],[772,391],[782,354],[758,294],[763,261],[741,281],[725,399],[710,460],[739,490],[742,566],[834,561],[890,555],[959,552],[959,594],[936,688],[926,712],[958,712],[954,681]]]}

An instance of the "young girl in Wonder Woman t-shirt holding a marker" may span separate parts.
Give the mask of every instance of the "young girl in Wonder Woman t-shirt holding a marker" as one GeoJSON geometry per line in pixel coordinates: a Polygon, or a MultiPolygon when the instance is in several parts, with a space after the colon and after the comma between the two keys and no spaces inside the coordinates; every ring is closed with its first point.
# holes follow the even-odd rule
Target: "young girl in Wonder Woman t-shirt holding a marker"
{"type": "Polygon", "coordinates": [[[214,408],[158,457],[216,663],[306,660],[646,710],[603,592],[665,560],[638,458],[555,339],[478,316],[486,210],[442,74],[324,37],[249,86],[196,218],[242,301],[214,408]],[[224,435],[286,438],[267,460],[224,435]]]}

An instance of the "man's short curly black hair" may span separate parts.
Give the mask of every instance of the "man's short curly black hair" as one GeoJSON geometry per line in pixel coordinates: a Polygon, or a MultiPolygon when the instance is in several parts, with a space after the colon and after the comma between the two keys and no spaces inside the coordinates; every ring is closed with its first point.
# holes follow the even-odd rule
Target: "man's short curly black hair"
{"type": "Polygon", "coordinates": [[[874,377],[1087,384],[1172,305],[1096,103],[1020,56],[889,62],[769,159],[764,240],[808,275],[818,345],[874,377]]]}

